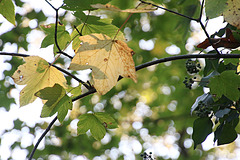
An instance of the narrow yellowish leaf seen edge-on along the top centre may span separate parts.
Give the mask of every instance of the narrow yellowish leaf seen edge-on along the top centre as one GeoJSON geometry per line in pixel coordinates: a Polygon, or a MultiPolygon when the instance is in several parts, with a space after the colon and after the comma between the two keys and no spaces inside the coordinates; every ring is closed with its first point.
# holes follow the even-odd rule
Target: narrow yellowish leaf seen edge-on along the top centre
{"type": "Polygon", "coordinates": [[[154,7],[153,5],[149,5],[149,4],[143,4],[143,3],[140,3],[138,5],[138,8],[125,9],[125,10],[121,10],[118,7],[116,7],[114,5],[110,5],[110,4],[105,4],[105,5],[92,4],[91,7],[97,8],[97,9],[105,9],[105,10],[109,10],[109,11],[128,12],[128,13],[145,13],[145,12],[153,12],[153,11],[157,10],[157,7],[154,7]]]}

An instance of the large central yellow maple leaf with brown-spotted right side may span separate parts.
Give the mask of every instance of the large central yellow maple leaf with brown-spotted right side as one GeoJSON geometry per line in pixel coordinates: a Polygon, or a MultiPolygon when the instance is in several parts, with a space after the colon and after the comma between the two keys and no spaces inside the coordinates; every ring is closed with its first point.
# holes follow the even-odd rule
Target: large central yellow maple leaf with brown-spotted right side
{"type": "Polygon", "coordinates": [[[137,82],[133,50],[120,40],[104,34],[81,36],[81,47],[69,67],[71,70],[92,69],[94,87],[100,94],[107,93],[117,83],[118,77],[137,82]]]}

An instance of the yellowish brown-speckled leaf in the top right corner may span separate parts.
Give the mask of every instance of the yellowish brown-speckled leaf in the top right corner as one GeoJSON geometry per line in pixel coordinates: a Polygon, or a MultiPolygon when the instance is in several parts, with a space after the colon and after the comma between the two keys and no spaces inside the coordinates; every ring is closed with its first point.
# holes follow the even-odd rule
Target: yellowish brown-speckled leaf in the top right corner
{"type": "Polygon", "coordinates": [[[230,23],[231,25],[237,27],[240,29],[240,1],[239,0],[228,0],[227,3],[227,8],[223,12],[223,16],[225,21],[230,23]]]}

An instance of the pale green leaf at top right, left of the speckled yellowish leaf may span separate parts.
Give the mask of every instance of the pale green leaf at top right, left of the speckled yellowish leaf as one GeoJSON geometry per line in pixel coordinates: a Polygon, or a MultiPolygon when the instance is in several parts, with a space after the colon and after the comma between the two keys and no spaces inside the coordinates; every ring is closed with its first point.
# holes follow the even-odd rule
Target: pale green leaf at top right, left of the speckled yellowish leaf
{"type": "Polygon", "coordinates": [[[215,18],[220,16],[226,9],[227,0],[206,0],[205,10],[208,18],[215,18]]]}

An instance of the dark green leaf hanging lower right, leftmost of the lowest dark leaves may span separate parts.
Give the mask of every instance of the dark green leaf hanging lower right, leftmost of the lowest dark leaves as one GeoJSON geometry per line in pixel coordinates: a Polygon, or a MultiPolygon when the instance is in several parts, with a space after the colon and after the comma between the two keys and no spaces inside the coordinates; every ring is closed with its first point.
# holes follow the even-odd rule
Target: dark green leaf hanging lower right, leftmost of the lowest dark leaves
{"type": "Polygon", "coordinates": [[[207,136],[212,133],[213,123],[209,117],[198,118],[193,123],[194,149],[201,144],[207,136]]]}

